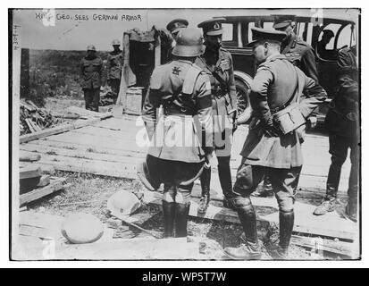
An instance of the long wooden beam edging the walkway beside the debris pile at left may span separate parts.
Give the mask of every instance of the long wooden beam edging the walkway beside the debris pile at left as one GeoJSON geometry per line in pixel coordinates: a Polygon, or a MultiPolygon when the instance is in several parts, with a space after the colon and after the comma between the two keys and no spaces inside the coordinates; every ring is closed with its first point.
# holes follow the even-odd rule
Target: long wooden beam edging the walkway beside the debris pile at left
{"type": "Polygon", "coordinates": [[[35,132],[35,133],[22,135],[20,137],[20,143],[25,143],[25,142],[28,142],[28,141],[31,141],[31,140],[36,140],[36,139],[44,138],[44,137],[47,137],[47,136],[63,133],[63,132],[69,131],[69,130],[78,129],[80,127],[88,126],[89,124],[99,122],[100,120],[103,120],[105,118],[109,118],[109,117],[112,117],[112,116],[113,116],[113,114],[105,114],[101,118],[93,118],[93,119],[89,119],[89,120],[77,121],[77,122],[74,122],[74,123],[67,123],[67,124],[55,126],[53,128],[49,128],[49,129],[46,129],[46,130],[38,131],[38,132],[35,132]]]}

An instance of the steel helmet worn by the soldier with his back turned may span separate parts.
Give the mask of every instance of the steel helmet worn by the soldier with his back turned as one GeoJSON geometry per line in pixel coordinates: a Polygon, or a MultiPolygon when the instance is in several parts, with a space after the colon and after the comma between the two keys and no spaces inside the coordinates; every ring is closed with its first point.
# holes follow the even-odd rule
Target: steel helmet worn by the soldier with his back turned
{"type": "Polygon", "coordinates": [[[197,56],[204,53],[203,37],[198,29],[180,29],[172,55],[197,56]]]}

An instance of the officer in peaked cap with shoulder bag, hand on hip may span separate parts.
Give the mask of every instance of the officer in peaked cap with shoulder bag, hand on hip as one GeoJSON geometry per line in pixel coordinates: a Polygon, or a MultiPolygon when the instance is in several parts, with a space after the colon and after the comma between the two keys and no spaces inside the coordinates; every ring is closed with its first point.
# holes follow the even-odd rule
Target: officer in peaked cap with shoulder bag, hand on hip
{"type": "Polygon", "coordinates": [[[284,134],[275,116],[278,112],[286,112],[289,105],[294,104],[298,105],[295,111],[304,121],[325,100],[326,93],[323,88],[319,92],[315,88],[314,92],[309,92],[310,97],[299,101],[304,90],[314,87],[314,80],[280,54],[285,34],[260,28],[252,29],[252,33],[255,41],[250,45],[259,64],[250,93],[254,117],[240,153],[242,161],[232,192],[246,244],[239,248],[225,248],[224,252],[234,259],[258,259],[261,256],[256,213],[250,194],[268,173],[280,210],[280,241],[268,251],[275,259],[285,259],[294,225],[294,200],[303,164],[301,142],[305,125],[294,126],[284,134]]]}

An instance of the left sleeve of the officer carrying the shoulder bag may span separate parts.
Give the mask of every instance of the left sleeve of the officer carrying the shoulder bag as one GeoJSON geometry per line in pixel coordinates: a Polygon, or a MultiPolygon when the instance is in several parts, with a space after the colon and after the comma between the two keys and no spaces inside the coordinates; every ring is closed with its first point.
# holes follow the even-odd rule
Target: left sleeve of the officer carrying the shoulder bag
{"type": "Polygon", "coordinates": [[[254,113],[264,122],[264,124],[273,126],[273,116],[268,105],[268,88],[273,83],[273,72],[266,67],[260,68],[251,83],[250,103],[254,113]]]}

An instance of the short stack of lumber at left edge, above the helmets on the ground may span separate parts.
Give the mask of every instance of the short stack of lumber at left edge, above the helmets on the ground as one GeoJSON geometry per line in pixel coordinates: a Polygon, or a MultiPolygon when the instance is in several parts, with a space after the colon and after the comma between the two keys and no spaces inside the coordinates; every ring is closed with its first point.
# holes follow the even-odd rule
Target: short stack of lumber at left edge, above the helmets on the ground
{"type": "MultiPolygon", "coordinates": [[[[21,162],[37,162],[38,154],[21,154],[21,162]]],[[[46,171],[47,172],[47,171],[46,171]]],[[[38,164],[20,164],[20,206],[63,189],[65,179],[42,172],[38,164]]]]}

